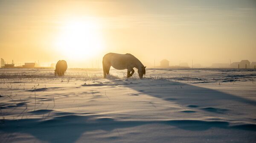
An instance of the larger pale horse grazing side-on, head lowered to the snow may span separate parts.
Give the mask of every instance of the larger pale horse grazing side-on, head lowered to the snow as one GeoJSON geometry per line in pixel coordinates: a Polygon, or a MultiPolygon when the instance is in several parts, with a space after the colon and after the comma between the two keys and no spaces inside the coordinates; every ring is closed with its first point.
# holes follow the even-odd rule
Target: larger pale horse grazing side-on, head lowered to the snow
{"type": "Polygon", "coordinates": [[[127,78],[134,74],[134,67],[138,69],[140,79],[145,75],[146,70],[144,65],[130,53],[119,54],[119,53],[107,53],[102,60],[104,78],[109,74],[110,67],[117,70],[127,69],[127,78]]]}

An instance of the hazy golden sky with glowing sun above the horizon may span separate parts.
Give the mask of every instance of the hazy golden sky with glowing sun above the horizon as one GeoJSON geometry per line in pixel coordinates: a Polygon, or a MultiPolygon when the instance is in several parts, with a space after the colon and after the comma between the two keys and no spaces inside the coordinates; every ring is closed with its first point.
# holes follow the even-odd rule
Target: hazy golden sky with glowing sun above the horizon
{"type": "Polygon", "coordinates": [[[101,67],[131,53],[147,67],[256,62],[255,0],[0,0],[0,58],[101,67]]]}

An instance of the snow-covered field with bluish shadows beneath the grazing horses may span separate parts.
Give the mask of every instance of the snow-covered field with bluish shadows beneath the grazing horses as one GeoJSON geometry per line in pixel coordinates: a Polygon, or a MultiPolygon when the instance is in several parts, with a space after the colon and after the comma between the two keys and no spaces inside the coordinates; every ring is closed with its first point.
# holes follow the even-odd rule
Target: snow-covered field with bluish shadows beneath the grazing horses
{"type": "Polygon", "coordinates": [[[0,143],[256,143],[256,71],[0,69],[0,143]]]}

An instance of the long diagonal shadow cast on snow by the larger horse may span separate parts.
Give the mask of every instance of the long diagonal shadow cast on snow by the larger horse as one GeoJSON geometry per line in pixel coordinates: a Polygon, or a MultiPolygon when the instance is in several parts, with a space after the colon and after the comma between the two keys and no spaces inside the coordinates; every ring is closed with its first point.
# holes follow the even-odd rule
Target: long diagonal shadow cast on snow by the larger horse
{"type": "Polygon", "coordinates": [[[241,96],[224,93],[218,90],[213,90],[205,87],[198,87],[192,84],[186,84],[177,81],[170,81],[167,79],[110,79],[116,82],[117,85],[136,90],[137,92],[145,93],[147,95],[161,98],[166,101],[175,101],[183,105],[227,105],[230,102],[236,102],[243,105],[250,104],[256,106],[256,101],[243,98],[241,96]],[[218,104],[216,102],[218,101],[218,104]]]}

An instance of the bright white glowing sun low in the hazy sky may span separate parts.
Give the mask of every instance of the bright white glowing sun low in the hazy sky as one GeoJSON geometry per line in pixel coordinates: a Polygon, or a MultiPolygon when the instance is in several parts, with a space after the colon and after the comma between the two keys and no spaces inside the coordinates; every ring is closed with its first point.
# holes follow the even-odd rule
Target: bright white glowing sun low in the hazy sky
{"type": "Polygon", "coordinates": [[[58,52],[70,59],[88,59],[103,50],[99,22],[93,20],[68,21],[57,36],[58,52]]]}

